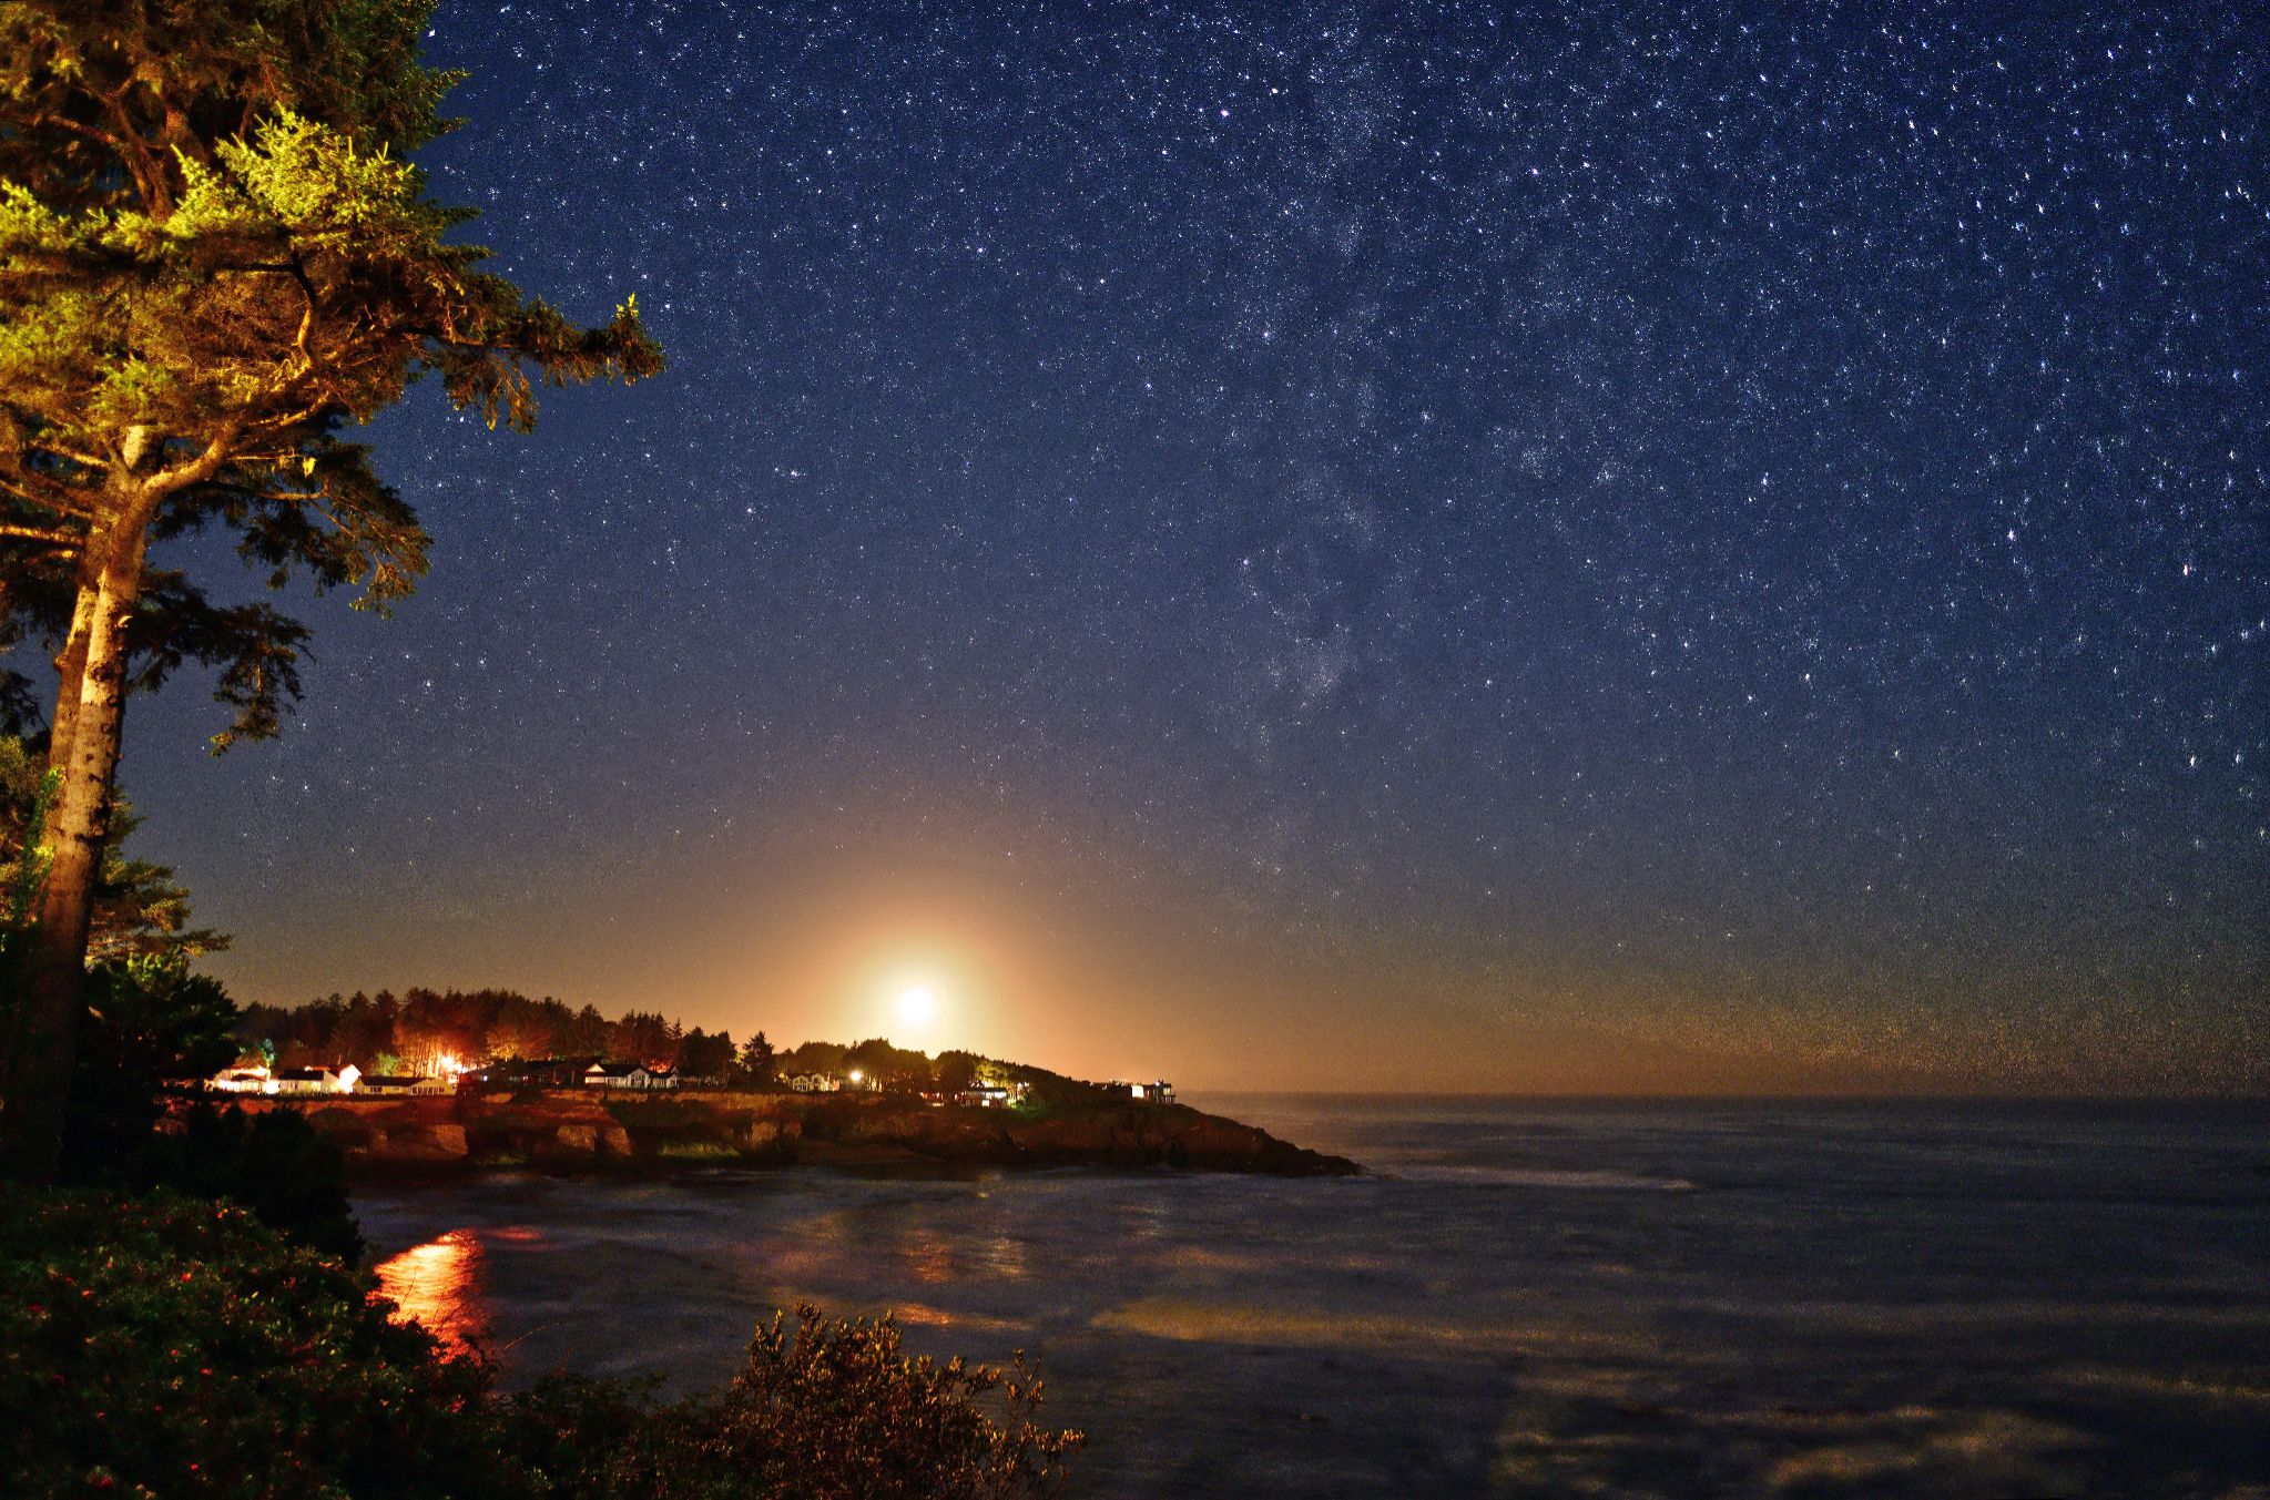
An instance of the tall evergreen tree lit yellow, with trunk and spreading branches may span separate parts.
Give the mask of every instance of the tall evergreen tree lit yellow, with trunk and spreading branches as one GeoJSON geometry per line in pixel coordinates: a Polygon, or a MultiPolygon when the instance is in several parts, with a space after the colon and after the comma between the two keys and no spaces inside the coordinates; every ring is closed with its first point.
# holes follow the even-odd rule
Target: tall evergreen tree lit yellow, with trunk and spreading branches
{"type": "Polygon", "coordinates": [[[300,685],[304,626],[152,570],[152,540],[232,531],[270,585],[386,608],[427,536],[347,424],[420,374],[527,429],[538,381],[661,370],[633,304],[579,329],[445,238],[470,213],[404,159],[452,84],[418,59],[427,11],[0,0],[0,647],[32,633],[59,672],[0,1171],[52,1171],[127,692],[218,665],[225,747],[300,685]]]}

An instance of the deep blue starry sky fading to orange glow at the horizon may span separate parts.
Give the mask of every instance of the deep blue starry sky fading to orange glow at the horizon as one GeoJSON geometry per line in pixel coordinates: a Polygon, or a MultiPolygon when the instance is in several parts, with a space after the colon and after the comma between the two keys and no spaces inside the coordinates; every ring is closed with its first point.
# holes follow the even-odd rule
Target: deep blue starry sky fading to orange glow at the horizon
{"type": "Polygon", "coordinates": [[[134,706],[213,971],[2270,1087],[2270,16],[1562,9],[447,0],[436,197],[672,365],[415,390],[420,595],[134,706]]]}

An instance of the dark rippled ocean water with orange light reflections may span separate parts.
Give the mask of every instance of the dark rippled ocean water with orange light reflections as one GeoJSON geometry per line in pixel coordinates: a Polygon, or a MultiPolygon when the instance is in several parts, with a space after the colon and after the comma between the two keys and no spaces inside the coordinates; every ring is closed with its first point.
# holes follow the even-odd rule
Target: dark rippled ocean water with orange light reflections
{"type": "Polygon", "coordinates": [[[1199,1096],[1360,1180],[497,1175],[356,1196],[545,1368],[774,1307],[1026,1350],[1078,1495],[2270,1495],[2270,1107],[1199,1096]]]}

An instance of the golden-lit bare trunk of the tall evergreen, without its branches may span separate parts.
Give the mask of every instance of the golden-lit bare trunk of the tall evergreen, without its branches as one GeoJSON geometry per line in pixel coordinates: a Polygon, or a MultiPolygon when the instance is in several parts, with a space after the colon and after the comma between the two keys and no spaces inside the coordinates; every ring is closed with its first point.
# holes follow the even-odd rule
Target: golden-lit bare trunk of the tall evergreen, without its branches
{"type": "Polygon", "coordinates": [[[48,810],[52,862],[30,933],[25,992],[11,1008],[14,1026],[0,1057],[0,1178],[45,1182],[64,1146],[64,1105],[86,1003],[86,933],[125,710],[125,631],[148,551],[141,506],[123,508],[125,520],[95,526],[86,538],[70,640],[57,660],[61,683],[48,765],[61,781],[48,810]]]}

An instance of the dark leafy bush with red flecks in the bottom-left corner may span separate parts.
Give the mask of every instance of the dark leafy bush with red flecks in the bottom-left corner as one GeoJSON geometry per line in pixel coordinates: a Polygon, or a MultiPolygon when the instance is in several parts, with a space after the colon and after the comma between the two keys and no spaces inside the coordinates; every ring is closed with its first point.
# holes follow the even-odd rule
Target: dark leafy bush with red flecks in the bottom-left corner
{"type": "Polygon", "coordinates": [[[236,1207],[0,1189],[0,1493],[515,1493],[488,1371],[236,1207]]]}

